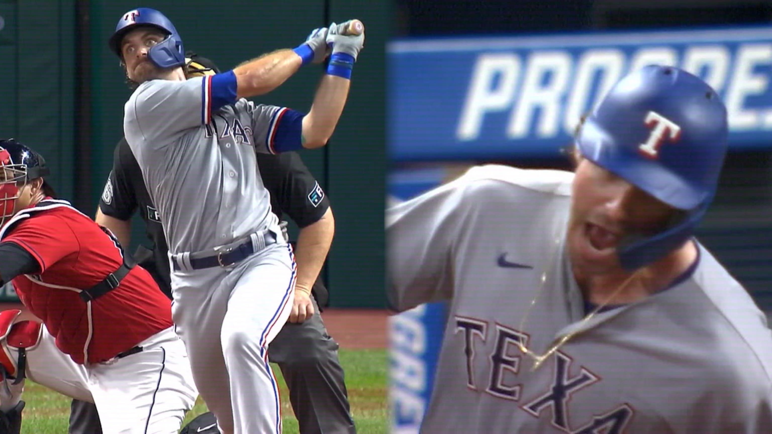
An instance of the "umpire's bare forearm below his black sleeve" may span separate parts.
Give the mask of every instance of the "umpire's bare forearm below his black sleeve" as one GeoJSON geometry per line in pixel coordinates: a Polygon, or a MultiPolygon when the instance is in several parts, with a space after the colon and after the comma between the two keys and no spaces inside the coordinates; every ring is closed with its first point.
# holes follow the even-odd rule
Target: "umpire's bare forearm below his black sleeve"
{"type": "Polygon", "coordinates": [[[297,263],[296,290],[311,292],[317,281],[335,235],[335,220],[330,209],[323,217],[303,229],[297,237],[295,262],[297,263]]]}

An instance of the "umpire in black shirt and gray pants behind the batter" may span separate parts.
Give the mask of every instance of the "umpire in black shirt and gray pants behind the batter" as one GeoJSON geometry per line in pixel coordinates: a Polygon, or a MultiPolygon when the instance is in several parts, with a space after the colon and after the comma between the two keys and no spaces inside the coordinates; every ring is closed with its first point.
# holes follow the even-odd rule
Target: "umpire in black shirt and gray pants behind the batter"
{"type": "MultiPolygon", "coordinates": [[[[188,78],[218,73],[211,60],[188,53],[188,78]]],[[[289,402],[298,419],[301,434],[355,433],[344,371],[338,360],[338,344],[324,327],[320,306],[327,306],[327,288],[319,276],[333,239],[335,223],[327,195],[295,152],[257,154],[262,182],[271,195],[271,209],[298,225],[293,243],[297,263],[295,300],[288,324],[269,345],[269,360],[279,364],[289,388],[289,402]]],[[[97,222],[107,226],[124,246],[129,245],[130,219],[139,210],[153,249],[140,246],[135,258],[157,280],[171,298],[168,246],[161,221],[144,185],[139,164],[126,139],[113,154],[113,170],[107,179],[97,222]]],[[[214,419],[210,414],[199,420],[214,419]]],[[[205,423],[205,422],[200,422],[205,423]]],[[[188,429],[196,432],[195,429],[188,429]]],[[[71,434],[100,434],[96,407],[73,401],[69,418],[71,434]]],[[[183,429],[185,432],[185,429],[183,429]]],[[[208,432],[208,431],[200,431],[208,432]]]]}

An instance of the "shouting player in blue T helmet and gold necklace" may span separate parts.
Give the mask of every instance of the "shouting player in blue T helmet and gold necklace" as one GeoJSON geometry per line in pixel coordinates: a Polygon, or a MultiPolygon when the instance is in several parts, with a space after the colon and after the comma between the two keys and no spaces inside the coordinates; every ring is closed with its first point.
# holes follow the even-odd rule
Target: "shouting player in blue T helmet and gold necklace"
{"type": "Polygon", "coordinates": [[[488,165],[388,210],[398,310],[449,301],[422,432],[772,432],[772,333],[693,238],[726,153],[696,76],[625,76],[574,173],[488,165]]]}

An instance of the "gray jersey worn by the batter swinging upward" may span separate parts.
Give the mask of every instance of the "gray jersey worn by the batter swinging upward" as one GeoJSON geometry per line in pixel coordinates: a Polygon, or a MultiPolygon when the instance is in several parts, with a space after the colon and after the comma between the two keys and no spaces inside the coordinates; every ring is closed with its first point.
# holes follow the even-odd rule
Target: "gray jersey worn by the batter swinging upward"
{"type": "Polygon", "coordinates": [[[245,99],[228,105],[216,84],[212,76],[151,80],[126,103],[124,133],[171,253],[278,229],[255,151],[276,152],[280,126],[302,115],[245,99]]]}

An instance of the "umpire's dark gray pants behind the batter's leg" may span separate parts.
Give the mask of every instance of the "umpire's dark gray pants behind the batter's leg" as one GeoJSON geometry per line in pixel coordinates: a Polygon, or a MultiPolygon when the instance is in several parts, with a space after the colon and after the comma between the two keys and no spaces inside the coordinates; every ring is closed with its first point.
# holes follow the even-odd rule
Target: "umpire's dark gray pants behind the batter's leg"
{"type": "MultiPolygon", "coordinates": [[[[285,324],[269,344],[268,358],[284,375],[301,434],[355,434],[338,344],[327,334],[316,300],[311,300],[313,317],[285,324]]],[[[95,405],[73,400],[69,433],[102,434],[95,405]]]]}

